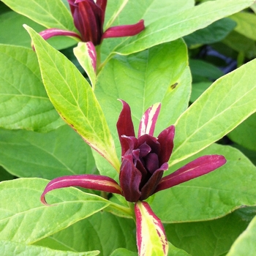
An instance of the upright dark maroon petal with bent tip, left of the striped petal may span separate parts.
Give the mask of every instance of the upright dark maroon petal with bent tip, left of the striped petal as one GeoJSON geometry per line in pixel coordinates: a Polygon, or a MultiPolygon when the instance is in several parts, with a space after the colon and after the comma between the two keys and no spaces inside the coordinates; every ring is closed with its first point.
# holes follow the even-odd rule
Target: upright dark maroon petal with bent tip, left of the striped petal
{"type": "Polygon", "coordinates": [[[129,105],[124,100],[120,99],[120,101],[123,104],[123,109],[121,110],[116,123],[116,128],[121,143],[121,155],[124,156],[124,153],[129,149],[129,146],[121,136],[126,135],[127,137],[135,137],[135,130],[132,123],[131,109],[129,108],[129,105]]]}

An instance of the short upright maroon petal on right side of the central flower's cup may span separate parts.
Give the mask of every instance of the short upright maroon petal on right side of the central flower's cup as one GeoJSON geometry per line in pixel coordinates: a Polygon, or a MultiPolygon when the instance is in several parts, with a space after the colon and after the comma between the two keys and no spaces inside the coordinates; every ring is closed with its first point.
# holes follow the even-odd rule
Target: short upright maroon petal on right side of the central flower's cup
{"type": "Polygon", "coordinates": [[[164,129],[158,136],[157,140],[160,144],[160,153],[159,153],[159,165],[162,165],[164,162],[168,162],[170,155],[173,152],[173,138],[175,135],[175,127],[171,125],[164,129]]]}

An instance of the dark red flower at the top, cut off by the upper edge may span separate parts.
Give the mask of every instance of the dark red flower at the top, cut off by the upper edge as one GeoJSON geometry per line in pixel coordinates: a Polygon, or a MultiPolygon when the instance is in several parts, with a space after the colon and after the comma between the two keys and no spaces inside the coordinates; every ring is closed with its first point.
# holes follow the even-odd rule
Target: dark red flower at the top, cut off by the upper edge
{"type": "Polygon", "coordinates": [[[107,0],[68,0],[68,2],[75,27],[80,34],[63,29],[46,29],[39,33],[44,39],[66,35],[77,37],[83,42],[92,42],[94,45],[99,45],[102,39],[131,37],[145,29],[144,21],[140,20],[132,25],[113,26],[103,32],[107,0]]]}

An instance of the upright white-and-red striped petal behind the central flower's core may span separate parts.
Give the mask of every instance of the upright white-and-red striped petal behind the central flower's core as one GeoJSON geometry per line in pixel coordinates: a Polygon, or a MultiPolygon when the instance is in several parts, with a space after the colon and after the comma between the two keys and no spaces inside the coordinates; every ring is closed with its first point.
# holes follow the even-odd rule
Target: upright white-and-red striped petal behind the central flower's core
{"type": "Polygon", "coordinates": [[[156,103],[146,110],[146,112],[144,113],[143,117],[140,120],[138,138],[145,134],[151,136],[154,135],[154,128],[156,126],[160,108],[161,104],[156,103]]]}

